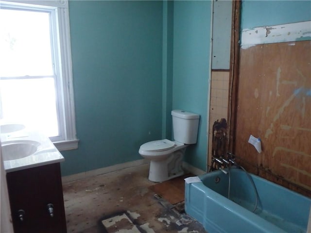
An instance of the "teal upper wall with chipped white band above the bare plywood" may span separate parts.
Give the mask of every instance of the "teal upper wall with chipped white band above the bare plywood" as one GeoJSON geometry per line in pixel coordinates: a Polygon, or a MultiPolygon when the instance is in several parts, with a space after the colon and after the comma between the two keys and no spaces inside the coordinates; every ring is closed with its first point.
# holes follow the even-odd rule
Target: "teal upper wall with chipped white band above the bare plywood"
{"type": "Polygon", "coordinates": [[[311,1],[242,1],[241,46],[311,40],[311,1]]]}

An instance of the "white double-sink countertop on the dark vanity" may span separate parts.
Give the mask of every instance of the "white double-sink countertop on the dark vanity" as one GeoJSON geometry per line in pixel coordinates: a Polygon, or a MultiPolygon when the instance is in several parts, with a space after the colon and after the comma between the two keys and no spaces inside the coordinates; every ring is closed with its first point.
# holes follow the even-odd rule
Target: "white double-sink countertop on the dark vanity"
{"type": "Polygon", "coordinates": [[[51,140],[47,136],[44,136],[42,133],[22,130],[14,133],[0,133],[0,137],[1,147],[14,143],[27,144],[27,142],[33,142],[33,144],[36,146],[35,152],[31,153],[30,155],[12,160],[8,159],[10,154],[5,155],[3,154],[5,150],[2,150],[1,157],[3,158],[4,170],[6,172],[65,161],[63,155],[56,149],[51,140]]]}

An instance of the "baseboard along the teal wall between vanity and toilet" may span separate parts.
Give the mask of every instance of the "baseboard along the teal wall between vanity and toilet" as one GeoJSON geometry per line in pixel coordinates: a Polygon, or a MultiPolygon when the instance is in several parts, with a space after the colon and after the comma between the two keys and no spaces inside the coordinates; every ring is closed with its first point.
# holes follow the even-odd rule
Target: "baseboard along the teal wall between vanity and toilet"
{"type": "Polygon", "coordinates": [[[76,181],[76,180],[80,180],[80,179],[84,179],[84,178],[89,178],[92,176],[102,175],[102,174],[113,172],[113,171],[119,171],[119,170],[129,168],[129,167],[133,167],[133,166],[147,165],[147,164],[149,164],[149,162],[150,161],[148,159],[138,159],[138,160],[126,162],[123,164],[116,164],[113,166],[106,166],[106,167],[102,167],[99,169],[94,169],[94,170],[90,170],[90,171],[86,171],[86,172],[76,173],[76,174],[69,175],[69,176],[63,176],[62,177],[62,183],[68,183],[68,182],[72,182],[72,181],[76,181]]]}

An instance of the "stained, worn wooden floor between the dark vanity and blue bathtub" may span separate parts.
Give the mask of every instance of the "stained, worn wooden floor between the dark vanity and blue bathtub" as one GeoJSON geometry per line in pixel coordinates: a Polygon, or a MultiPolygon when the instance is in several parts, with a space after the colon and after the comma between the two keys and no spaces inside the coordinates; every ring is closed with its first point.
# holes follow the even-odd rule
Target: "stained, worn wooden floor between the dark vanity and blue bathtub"
{"type": "MultiPolygon", "coordinates": [[[[145,233],[206,233],[183,212],[156,195],[148,165],[63,183],[68,233],[104,233],[101,220],[126,213],[145,233]]],[[[179,179],[183,183],[182,179],[179,179]]]]}

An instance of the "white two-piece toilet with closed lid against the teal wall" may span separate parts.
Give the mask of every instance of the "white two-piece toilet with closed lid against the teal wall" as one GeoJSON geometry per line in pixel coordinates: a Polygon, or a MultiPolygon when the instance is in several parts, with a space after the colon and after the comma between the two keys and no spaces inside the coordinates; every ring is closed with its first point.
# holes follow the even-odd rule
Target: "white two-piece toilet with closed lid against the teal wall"
{"type": "Polygon", "coordinates": [[[200,115],[183,110],[173,110],[173,137],[147,142],[140,146],[139,154],[150,159],[149,180],[167,181],[184,174],[182,160],[186,147],[195,144],[200,115]]]}

